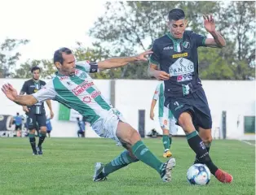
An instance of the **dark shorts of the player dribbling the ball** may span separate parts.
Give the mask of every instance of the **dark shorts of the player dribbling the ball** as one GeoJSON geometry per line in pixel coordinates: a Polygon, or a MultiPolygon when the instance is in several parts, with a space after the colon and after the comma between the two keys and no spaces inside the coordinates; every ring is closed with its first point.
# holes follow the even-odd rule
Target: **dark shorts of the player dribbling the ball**
{"type": "Polygon", "coordinates": [[[183,112],[190,113],[197,131],[198,127],[205,129],[212,128],[210,108],[204,89],[199,89],[185,97],[170,98],[169,108],[177,121],[179,119],[179,115],[183,112]]]}

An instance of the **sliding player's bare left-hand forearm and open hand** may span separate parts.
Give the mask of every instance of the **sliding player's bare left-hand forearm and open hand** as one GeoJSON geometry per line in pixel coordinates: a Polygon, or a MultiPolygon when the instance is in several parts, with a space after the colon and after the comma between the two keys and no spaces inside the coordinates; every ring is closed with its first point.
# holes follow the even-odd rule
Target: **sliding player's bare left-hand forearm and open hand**
{"type": "Polygon", "coordinates": [[[15,102],[24,106],[32,106],[38,102],[32,95],[18,95],[16,89],[11,84],[2,85],[2,92],[5,93],[7,98],[12,102],[15,102]]]}

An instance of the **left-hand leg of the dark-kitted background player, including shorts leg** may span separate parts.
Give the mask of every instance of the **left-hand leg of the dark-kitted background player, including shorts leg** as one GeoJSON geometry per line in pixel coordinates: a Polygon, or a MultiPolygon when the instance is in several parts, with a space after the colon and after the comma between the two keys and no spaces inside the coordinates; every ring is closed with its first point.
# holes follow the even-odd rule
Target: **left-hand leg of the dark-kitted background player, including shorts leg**
{"type": "Polygon", "coordinates": [[[36,148],[36,137],[35,137],[35,132],[36,132],[36,117],[33,114],[28,114],[27,118],[27,125],[29,128],[29,142],[31,145],[31,148],[33,150],[33,155],[37,155],[38,151],[36,148]]]}

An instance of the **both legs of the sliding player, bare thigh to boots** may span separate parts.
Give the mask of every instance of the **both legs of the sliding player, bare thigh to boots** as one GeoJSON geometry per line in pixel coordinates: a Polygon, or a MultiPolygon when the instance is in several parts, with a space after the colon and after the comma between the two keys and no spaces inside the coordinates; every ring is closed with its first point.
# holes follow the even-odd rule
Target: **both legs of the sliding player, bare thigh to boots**
{"type": "Polygon", "coordinates": [[[108,167],[107,165],[103,167],[101,163],[96,163],[94,180],[104,180],[107,174],[140,160],[160,173],[162,180],[170,181],[171,169],[175,165],[174,158],[170,158],[167,163],[161,163],[161,161],[143,144],[139,133],[135,131],[130,124],[117,121],[116,127],[115,136],[118,141],[121,141],[121,145],[123,145],[127,151],[121,153],[112,162],[108,163],[108,167]]]}

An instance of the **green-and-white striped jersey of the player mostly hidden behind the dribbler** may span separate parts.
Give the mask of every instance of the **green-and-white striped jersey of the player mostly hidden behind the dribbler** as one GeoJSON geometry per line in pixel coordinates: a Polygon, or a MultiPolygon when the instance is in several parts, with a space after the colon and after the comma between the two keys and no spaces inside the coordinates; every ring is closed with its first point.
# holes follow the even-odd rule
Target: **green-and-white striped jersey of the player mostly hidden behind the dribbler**
{"type": "Polygon", "coordinates": [[[158,117],[166,117],[168,119],[173,118],[173,114],[170,109],[164,106],[165,103],[165,84],[161,82],[157,85],[157,89],[154,93],[153,99],[158,101],[158,117]]]}

